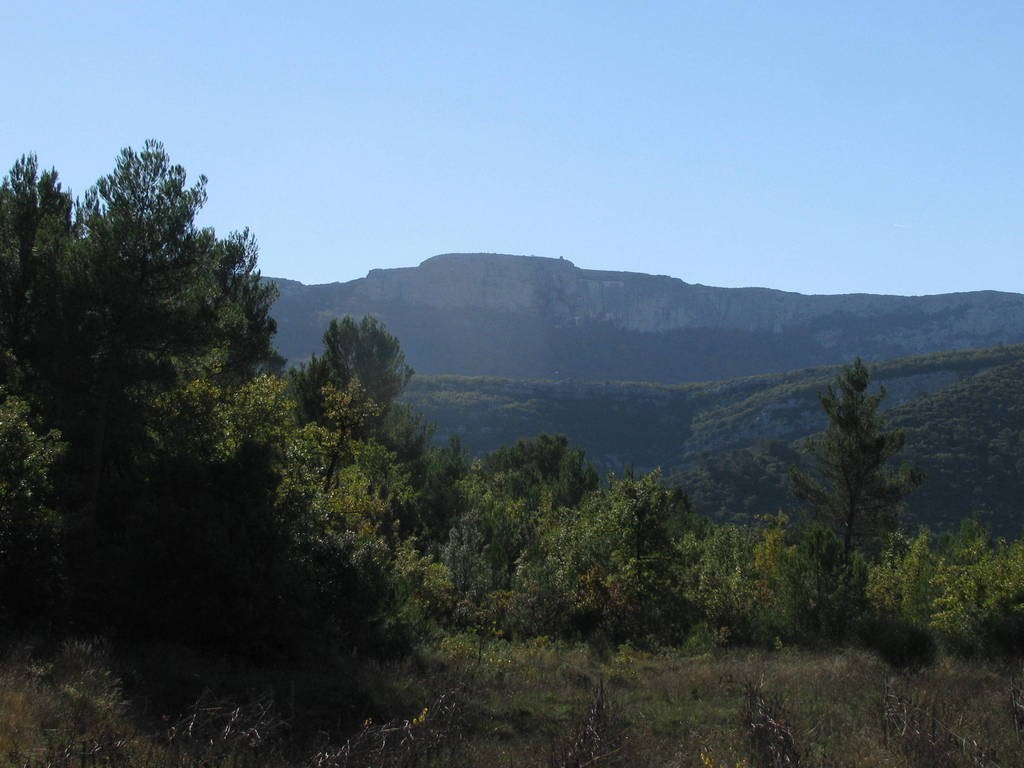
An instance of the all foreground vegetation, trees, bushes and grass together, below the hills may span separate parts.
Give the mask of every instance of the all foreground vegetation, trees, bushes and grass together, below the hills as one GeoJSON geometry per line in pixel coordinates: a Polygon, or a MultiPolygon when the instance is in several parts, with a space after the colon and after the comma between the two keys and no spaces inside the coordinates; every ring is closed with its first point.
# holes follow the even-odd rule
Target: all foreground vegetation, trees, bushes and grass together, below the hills
{"type": "Polygon", "coordinates": [[[716,524],[564,437],[432,444],[373,318],[284,371],[204,200],[152,142],[0,189],[7,762],[1022,762],[1024,542],[900,527],[859,360],[793,513],[716,524]]]}

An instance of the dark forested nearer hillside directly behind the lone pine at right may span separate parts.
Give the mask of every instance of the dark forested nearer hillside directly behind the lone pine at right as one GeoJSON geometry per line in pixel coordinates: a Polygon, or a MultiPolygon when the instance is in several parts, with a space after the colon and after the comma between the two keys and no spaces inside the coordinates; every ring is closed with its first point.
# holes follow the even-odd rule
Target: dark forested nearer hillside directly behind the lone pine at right
{"type": "MultiPolygon", "coordinates": [[[[992,351],[1001,356],[1007,350],[992,351]]],[[[914,375],[948,385],[893,403],[889,416],[906,431],[905,456],[928,476],[908,501],[904,521],[909,527],[950,529],[973,515],[1002,536],[1018,537],[1024,528],[1024,360],[987,362],[995,365],[973,375],[951,359],[945,371],[922,370],[914,375]]],[[[676,470],[674,479],[689,489],[699,509],[716,517],[737,519],[737,514],[787,508],[787,467],[805,461],[801,441],[793,436],[756,435],[742,446],[732,442],[726,450],[699,454],[676,470]]]]}

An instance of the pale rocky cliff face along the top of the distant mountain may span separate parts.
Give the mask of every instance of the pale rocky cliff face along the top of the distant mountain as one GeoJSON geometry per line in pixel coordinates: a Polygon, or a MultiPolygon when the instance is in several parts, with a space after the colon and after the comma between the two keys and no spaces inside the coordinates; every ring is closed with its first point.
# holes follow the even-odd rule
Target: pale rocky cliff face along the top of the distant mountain
{"type": "Polygon", "coordinates": [[[926,323],[941,321],[933,329],[941,333],[1024,330],[1024,297],[1019,294],[805,296],[765,288],[712,288],[676,278],[580,269],[564,259],[502,254],[444,254],[418,267],[375,269],[355,292],[371,301],[529,312],[554,325],[609,323],[643,333],[688,328],[783,333],[822,321],[841,323],[847,315],[907,313],[926,323]]]}

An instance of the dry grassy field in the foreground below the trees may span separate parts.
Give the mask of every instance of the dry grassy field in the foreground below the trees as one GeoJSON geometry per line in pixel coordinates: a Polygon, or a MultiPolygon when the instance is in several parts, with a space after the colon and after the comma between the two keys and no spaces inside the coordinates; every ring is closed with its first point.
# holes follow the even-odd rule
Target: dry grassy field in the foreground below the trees
{"type": "Polygon", "coordinates": [[[1019,671],[947,658],[896,675],[856,650],[689,655],[469,636],[400,663],[257,670],[173,648],[23,642],[0,665],[0,760],[1019,766],[1019,671]]]}

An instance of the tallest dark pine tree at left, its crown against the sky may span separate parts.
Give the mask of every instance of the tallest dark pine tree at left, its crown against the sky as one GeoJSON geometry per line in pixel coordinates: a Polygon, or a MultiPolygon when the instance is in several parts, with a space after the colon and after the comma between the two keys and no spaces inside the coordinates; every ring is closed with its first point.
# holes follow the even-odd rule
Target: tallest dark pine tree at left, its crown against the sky
{"type": "Polygon", "coordinates": [[[79,273],[67,291],[83,318],[78,423],[66,433],[87,478],[85,507],[114,510],[138,481],[153,398],[183,378],[239,380],[273,357],[272,293],[255,242],[218,241],[196,222],[206,178],[188,184],[158,141],[123,150],[80,205],[79,273]]]}

